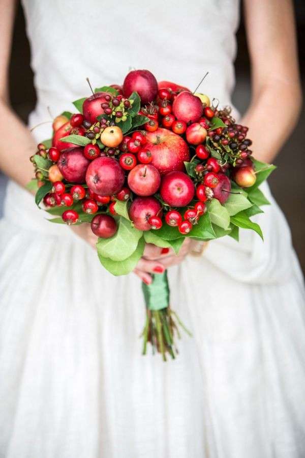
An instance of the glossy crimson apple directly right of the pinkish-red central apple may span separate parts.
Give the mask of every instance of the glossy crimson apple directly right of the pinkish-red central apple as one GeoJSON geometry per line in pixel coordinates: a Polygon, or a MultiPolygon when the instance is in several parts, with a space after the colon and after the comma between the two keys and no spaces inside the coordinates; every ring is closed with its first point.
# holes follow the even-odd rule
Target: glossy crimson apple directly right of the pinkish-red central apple
{"type": "Polygon", "coordinates": [[[195,186],[191,178],[183,172],[167,173],[160,186],[160,194],[165,203],[172,207],[184,207],[194,197],[195,186]]]}

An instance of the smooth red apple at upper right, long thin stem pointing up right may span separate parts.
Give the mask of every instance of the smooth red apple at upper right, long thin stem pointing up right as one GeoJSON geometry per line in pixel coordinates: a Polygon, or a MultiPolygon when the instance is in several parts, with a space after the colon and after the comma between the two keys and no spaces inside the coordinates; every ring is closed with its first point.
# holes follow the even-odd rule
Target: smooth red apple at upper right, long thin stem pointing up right
{"type": "Polygon", "coordinates": [[[183,91],[173,101],[173,114],[178,121],[196,122],[203,113],[202,102],[191,92],[183,91]]]}

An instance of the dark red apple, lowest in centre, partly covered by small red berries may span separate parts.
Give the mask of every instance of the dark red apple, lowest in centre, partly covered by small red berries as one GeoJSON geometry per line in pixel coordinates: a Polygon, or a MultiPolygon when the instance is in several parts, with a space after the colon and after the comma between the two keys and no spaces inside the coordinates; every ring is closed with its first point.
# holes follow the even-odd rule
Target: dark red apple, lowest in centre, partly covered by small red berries
{"type": "Polygon", "coordinates": [[[150,217],[160,216],[161,204],[154,197],[136,197],[129,208],[129,217],[136,229],[149,231],[150,217]]]}

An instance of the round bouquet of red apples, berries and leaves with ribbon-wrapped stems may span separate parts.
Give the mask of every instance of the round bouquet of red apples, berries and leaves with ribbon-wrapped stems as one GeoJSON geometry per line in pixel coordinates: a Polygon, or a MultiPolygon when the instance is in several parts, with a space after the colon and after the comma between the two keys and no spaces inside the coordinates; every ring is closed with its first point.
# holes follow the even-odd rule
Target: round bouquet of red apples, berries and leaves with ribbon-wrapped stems
{"type": "MultiPolygon", "coordinates": [[[[157,83],[147,70],[131,71],[123,86],[90,89],[73,102],[77,113],[54,119],[52,138],[30,158],[28,187],[50,223],[90,223],[113,275],[130,273],[145,243],[178,253],[186,237],[238,241],[239,228],[263,237],[251,217],[269,203],[259,185],[274,166],[252,157],[248,128],[230,107],[157,83]]],[[[170,308],[166,271],[142,287],[143,354],[150,342],[164,360],[174,358],[184,326],[170,308]]]]}

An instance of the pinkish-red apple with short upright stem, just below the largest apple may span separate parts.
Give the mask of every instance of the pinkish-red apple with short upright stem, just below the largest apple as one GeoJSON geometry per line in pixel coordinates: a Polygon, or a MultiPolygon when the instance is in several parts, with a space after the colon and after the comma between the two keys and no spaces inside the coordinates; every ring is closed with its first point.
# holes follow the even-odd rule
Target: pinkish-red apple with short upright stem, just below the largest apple
{"type": "Polygon", "coordinates": [[[138,196],[151,196],[160,186],[161,176],[156,167],[150,164],[139,164],[128,174],[128,185],[138,196]]]}

